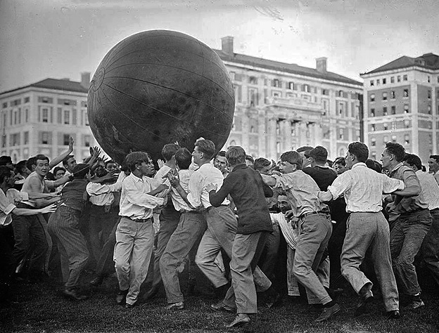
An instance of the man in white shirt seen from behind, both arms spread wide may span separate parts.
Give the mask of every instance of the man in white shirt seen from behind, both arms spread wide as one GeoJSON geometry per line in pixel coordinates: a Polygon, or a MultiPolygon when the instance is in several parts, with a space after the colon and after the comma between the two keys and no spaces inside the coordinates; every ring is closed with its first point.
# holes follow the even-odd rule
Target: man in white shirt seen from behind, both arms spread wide
{"type": "Polygon", "coordinates": [[[345,195],[346,211],[350,212],[341,254],[341,271],[355,292],[360,295],[355,315],[364,313],[373,299],[372,282],[362,273],[360,265],[369,250],[380,283],[388,318],[400,318],[395,275],[390,258],[388,222],[381,213],[383,193],[404,195],[404,183],[367,168],[367,145],[350,143],[346,155],[348,171],[338,176],[328,191],[319,192],[319,200],[329,202],[345,195]]]}

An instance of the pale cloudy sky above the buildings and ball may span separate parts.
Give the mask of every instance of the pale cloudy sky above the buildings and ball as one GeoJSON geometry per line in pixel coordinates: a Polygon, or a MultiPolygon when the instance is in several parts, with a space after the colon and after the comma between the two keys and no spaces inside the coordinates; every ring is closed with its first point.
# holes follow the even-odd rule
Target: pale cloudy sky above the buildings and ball
{"type": "Polygon", "coordinates": [[[439,55],[438,0],[0,0],[0,91],[80,81],[119,41],[176,30],[212,48],[315,67],[362,81],[402,55],[439,55]]]}

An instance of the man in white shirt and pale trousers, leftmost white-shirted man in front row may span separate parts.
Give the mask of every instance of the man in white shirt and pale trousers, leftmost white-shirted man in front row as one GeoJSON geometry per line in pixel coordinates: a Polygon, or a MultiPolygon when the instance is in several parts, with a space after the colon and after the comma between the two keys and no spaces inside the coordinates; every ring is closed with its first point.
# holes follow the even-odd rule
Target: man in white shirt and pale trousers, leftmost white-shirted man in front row
{"type": "Polygon", "coordinates": [[[114,261],[120,289],[116,303],[132,308],[153,253],[153,209],[164,204],[167,186],[150,178],[155,170],[146,152],[132,152],[126,161],[131,174],[122,183],[114,261]]]}

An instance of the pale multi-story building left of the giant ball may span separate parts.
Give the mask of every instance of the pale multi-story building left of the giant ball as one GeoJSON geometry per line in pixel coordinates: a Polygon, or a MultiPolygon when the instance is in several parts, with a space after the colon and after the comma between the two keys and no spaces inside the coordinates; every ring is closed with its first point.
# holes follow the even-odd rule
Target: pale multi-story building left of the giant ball
{"type": "Polygon", "coordinates": [[[87,118],[89,73],[82,82],[44,79],[0,93],[0,155],[14,163],[37,154],[56,157],[75,140],[78,161],[96,145],[87,118]]]}

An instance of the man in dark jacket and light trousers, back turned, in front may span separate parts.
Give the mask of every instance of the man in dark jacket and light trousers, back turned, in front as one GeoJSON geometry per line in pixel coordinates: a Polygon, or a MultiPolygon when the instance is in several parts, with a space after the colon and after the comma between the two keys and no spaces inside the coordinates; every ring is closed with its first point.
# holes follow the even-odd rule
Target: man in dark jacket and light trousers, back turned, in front
{"type": "MultiPolygon", "coordinates": [[[[227,295],[235,294],[236,318],[228,327],[250,322],[249,313],[257,313],[256,289],[253,270],[256,267],[265,240],[273,230],[265,196],[272,190],[262,182],[260,174],[246,166],[246,152],[241,147],[231,147],[226,152],[233,169],[218,192],[217,186],[208,184],[210,204],[218,207],[231,195],[238,211],[238,228],[231,250],[231,287],[227,295]]],[[[226,296],[227,299],[227,296],[226,296]]]]}

